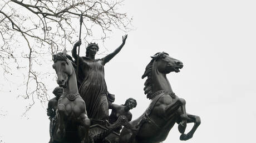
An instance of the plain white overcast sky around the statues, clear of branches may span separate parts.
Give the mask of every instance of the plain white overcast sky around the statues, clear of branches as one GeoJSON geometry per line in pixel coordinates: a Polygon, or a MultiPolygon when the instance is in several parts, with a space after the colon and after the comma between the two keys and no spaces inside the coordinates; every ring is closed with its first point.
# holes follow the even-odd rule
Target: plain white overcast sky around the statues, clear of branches
{"type": "MultiPolygon", "coordinates": [[[[188,113],[201,118],[194,137],[186,142],[253,142],[255,7],[256,1],[246,0],[126,0],[121,10],[133,17],[136,30],[127,33],[125,47],[105,66],[106,83],[110,93],[116,95],[115,103],[135,98],[138,105],[132,110],[133,119],[145,111],[149,100],[144,95],[145,80],[141,75],[150,56],[164,51],[184,63],[181,72],[170,73],[168,79],[176,95],[186,99],[188,113]]],[[[124,34],[114,32],[107,39],[109,52],[121,44],[124,34]]],[[[51,65],[42,68],[52,70],[51,65]]],[[[0,116],[0,139],[7,143],[47,142],[46,108],[36,103],[28,113],[29,119],[21,118],[26,101],[9,93],[16,87],[10,88],[4,82],[2,79],[0,110],[7,115],[0,116]]],[[[48,84],[52,89],[57,86],[52,80],[48,84]]],[[[164,142],[183,142],[177,127],[164,142]]]]}

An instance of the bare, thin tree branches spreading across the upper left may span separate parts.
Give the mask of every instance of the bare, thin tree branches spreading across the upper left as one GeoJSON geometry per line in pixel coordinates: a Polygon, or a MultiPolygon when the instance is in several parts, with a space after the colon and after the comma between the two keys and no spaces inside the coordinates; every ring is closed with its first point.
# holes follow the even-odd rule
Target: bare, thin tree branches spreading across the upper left
{"type": "Polygon", "coordinates": [[[32,99],[27,110],[35,104],[34,99],[48,100],[42,79],[46,72],[38,71],[38,67],[50,60],[46,57],[77,40],[81,13],[85,42],[92,38],[104,40],[112,29],[130,30],[131,19],[118,11],[121,5],[119,0],[0,1],[0,65],[4,74],[12,74],[13,64],[16,69],[26,69],[26,91],[22,96],[32,99]],[[99,27],[101,34],[95,37],[92,29],[99,27]],[[23,42],[27,48],[21,47],[23,42]]]}

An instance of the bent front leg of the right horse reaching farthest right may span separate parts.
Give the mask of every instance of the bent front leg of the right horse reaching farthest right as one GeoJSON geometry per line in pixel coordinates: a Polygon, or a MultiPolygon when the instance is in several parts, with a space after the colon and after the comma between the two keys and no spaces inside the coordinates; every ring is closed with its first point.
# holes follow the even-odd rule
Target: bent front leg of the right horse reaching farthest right
{"type": "Polygon", "coordinates": [[[201,119],[199,116],[188,114],[188,123],[194,122],[194,126],[192,129],[188,132],[188,134],[181,134],[180,140],[188,140],[191,139],[195,133],[195,130],[198,128],[198,126],[201,124],[201,119]]]}

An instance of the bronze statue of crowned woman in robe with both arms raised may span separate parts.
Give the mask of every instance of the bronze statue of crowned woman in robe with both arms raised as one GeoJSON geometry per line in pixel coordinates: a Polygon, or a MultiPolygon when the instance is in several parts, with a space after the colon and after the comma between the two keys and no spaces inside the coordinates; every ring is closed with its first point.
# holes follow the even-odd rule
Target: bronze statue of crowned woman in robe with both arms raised
{"type": "Polygon", "coordinates": [[[86,48],[86,57],[78,57],[77,47],[81,40],[75,43],[72,56],[75,61],[79,58],[78,86],[79,93],[85,100],[88,118],[92,120],[107,120],[109,118],[109,105],[107,101],[107,85],[104,77],[104,65],[115,57],[125,45],[127,35],[122,37],[122,44],[113,53],[102,59],[95,59],[99,46],[91,43],[86,48]]]}

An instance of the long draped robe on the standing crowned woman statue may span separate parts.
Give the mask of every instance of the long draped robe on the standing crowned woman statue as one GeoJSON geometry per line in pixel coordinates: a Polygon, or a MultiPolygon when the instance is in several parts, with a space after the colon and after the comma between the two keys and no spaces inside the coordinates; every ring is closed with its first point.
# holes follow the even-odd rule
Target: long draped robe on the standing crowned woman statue
{"type": "Polygon", "coordinates": [[[102,59],[79,58],[79,93],[85,100],[88,118],[106,120],[109,117],[109,105],[106,97],[104,62],[102,59]]]}

